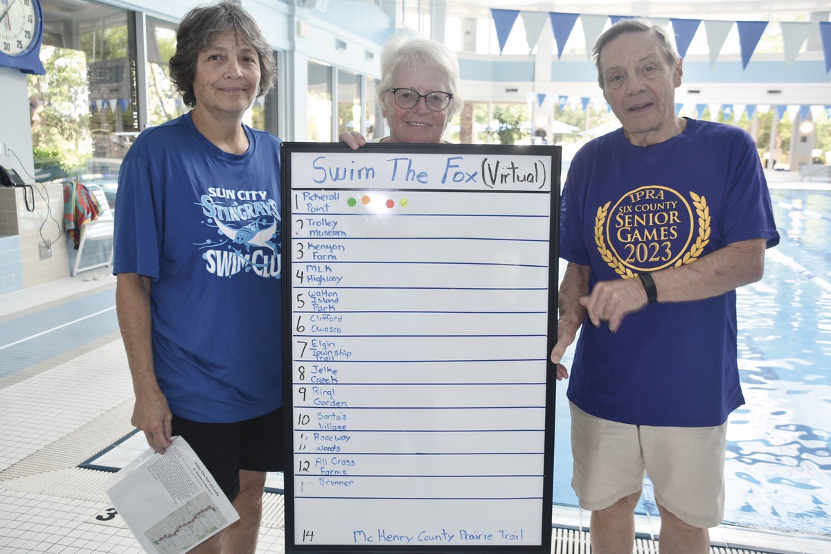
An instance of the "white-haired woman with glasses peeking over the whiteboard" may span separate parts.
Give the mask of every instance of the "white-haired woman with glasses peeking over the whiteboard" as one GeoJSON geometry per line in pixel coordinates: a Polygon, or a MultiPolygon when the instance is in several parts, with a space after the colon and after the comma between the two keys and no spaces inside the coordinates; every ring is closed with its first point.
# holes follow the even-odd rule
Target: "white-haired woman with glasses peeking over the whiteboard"
{"type": "MultiPolygon", "coordinates": [[[[459,60],[440,42],[396,34],[381,54],[377,96],[390,135],[373,142],[441,142],[447,124],[462,109],[459,60]]],[[[357,131],[344,132],[339,139],[353,150],[366,145],[357,131]]]]}

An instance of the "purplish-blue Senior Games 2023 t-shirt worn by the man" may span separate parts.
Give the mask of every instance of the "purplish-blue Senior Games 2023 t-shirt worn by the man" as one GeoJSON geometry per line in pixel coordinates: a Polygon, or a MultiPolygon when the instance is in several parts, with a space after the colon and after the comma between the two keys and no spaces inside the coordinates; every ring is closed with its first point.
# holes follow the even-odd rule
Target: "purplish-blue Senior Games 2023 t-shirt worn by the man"
{"type": "MultiPolygon", "coordinates": [[[[752,238],[779,243],[759,155],[737,127],[688,119],[680,135],[647,147],[616,130],[568,170],[560,253],[591,267],[589,287],[752,238]]],[[[615,333],[587,318],[568,399],[627,424],[719,425],[745,401],[736,357],[735,291],[647,305],[615,333]]]]}

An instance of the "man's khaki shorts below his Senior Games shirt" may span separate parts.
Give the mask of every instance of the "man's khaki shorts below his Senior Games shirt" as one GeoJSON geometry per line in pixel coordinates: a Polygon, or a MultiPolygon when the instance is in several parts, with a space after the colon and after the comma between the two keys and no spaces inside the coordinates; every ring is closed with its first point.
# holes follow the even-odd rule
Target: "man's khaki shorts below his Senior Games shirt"
{"type": "Polygon", "coordinates": [[[655,499],[693,527],[724,516],[727,423],[717,427],[651,427],[589,415],[574,404],[572,488],[584,510],[597,511],[641,491],[649,474],[655,499]]]}

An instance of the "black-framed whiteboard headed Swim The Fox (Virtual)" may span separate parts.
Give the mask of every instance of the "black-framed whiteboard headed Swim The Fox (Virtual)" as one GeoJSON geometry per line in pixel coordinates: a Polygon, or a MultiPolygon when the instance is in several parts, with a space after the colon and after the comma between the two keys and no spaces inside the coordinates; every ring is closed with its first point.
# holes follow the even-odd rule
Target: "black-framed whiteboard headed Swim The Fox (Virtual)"
{"type": "Polygon", "coordinates": [[[559,174],[283,144],[286,552],[550,552],[559,174]]]}

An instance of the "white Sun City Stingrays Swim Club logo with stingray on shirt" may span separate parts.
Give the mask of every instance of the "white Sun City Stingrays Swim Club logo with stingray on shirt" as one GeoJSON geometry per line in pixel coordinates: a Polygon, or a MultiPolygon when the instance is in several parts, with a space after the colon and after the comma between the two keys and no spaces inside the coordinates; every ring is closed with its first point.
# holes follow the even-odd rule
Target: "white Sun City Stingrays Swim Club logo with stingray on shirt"
{"type": "Polygon", "coordinates": [[[280,208],[263,191],[208,189],[198,205],[219,238],[198,244],[205,268],[219,277],[243,269],[260,277],[280,278],[280,208]],[[218,199],[229,199],[229,205],[218,199]],[[241,200],[242,202],[237,202],[241,200]]]}

